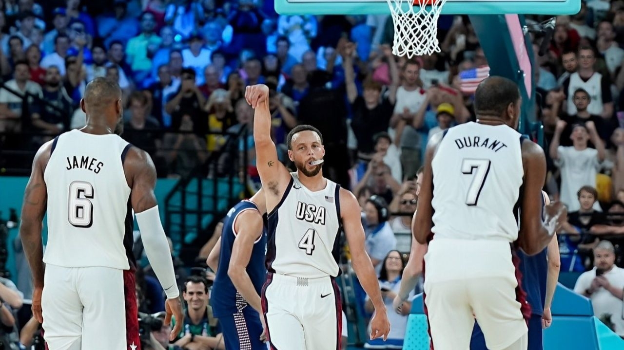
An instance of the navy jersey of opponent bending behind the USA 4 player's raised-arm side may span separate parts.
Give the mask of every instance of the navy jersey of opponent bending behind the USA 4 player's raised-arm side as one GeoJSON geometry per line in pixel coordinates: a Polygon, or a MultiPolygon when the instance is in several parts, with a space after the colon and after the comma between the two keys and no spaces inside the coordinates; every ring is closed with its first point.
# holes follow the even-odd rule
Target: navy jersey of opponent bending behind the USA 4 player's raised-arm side
{"type": "MultiPolygon", "coordinates": [[[[238,214],[245,210],[258,210],[256,204],[251,201],[241,201],[232,207],[227,217],[223,221],[223,231],[221,233],[221,254],[219,255],[219,267],[217,277],[212,287],[212,295],[210,303],[215,317],[233,315],[240,310],[236,306],[236,287],[228,276],[228,266],[230,266],[230,258],[232,257],[232,246],[236,238],[234,224],[238,214]]],[[[247,264],[247,273],[251,278],[251,283],[260,295],[262,285],[266,279],[265,267],[266,255],[266,225],[262,229],[262,235],[256,240],[251,250],[251,258],[247,264]]]]}

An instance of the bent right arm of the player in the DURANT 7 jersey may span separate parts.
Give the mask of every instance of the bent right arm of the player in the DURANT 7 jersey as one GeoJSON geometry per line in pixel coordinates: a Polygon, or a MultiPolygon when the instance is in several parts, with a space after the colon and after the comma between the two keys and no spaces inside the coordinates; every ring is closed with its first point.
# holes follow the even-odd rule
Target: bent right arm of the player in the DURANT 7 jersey
{"type": "Polygon", "coordinates": [[[546,157],[542,148],[530,140],[524,140],[522,143],[522,166],[524,186],[520,196],[522,202],[518,242],[525,253],[534,255],[544,250],[552,240],[555,230],[565,221],[567,210],[560,202],[550,203],[544,207],[546,220],[542,221],[542,208],[535,203],[542,201],[546,157]]]}

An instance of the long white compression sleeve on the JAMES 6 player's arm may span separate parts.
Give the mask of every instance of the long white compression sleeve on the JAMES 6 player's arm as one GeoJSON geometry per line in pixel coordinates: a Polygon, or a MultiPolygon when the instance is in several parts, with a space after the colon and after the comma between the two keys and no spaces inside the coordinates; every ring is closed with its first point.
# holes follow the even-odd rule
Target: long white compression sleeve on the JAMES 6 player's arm
{"type": "Polygon", "coordinates": [[[167,298],[177,298],[180,296],[180,291],[175,282],[171,251],[169,250],[165,230],[160,223],[158,206],[135,215],[137,224],[139,224],[145,254],[150,261],[150,265],[152,265],[152,269],[154,269],[154,273],[156,273],[156,277],[158,277],[158,281],[160,281],[160,285],[165,290],[167,298]]]}

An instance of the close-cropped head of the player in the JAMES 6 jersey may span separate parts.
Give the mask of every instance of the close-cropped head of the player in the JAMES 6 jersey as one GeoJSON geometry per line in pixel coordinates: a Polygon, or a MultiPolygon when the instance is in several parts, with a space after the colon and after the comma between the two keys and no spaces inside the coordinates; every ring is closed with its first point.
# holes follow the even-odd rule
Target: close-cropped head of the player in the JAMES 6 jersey
{"type": "Polygon", "coordinates": [[[87,114],[87,126],[105,124],[120,135],[124,130],[121,100],[122,92],[117,82],[109,78],[95,78],[88,83],[80,101],[82,111],[87,114]]]}

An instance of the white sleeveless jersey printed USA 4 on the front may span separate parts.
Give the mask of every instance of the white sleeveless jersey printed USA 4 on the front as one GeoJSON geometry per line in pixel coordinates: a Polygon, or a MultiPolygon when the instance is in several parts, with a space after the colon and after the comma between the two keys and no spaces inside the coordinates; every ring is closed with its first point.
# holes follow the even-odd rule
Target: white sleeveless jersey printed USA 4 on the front
{"type": "Polygon", "coordinates": [[[297,173],[291,176],[280,203],[268,215],[267,270],[294,277],[336,277],[340,186],[327,180],[324,189],[313,192],[297,173]]]}

